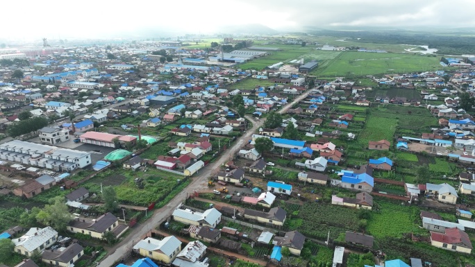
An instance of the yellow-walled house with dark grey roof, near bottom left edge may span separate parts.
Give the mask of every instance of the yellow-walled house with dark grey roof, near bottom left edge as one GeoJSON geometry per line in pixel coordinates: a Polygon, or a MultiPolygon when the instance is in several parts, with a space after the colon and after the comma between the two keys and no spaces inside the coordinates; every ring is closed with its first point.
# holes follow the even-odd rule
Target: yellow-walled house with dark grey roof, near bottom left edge
{"type": "Polygon", "coordinates": [[[52,266],[69,267],[78,261],[81,256],[84,255],[83,246],[78,243],[72,243],[69,247],[61,250],[44,250],[41,255],[41,260],[45,264],[51,264],[52,266]]]}

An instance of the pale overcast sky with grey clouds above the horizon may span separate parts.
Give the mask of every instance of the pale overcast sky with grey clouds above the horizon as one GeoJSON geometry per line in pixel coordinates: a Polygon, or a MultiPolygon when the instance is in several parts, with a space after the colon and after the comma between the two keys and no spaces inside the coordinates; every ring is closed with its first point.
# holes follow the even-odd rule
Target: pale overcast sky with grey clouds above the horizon
{"type": "Polygon", "coordinates": [[[281,31],[475,25],[474,0],[3,0],[2,10],[3,38],[140,36],[149,29],[213,33],[237,24],[281,31]]]}

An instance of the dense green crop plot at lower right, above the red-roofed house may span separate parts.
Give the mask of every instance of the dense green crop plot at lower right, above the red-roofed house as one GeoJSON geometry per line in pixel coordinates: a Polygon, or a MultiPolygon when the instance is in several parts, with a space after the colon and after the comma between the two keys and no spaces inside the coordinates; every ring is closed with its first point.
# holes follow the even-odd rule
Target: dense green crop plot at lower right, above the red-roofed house
{"type": "Polygon", "coordinates": [[[384,200],[375,200],[380,207],[379,212],[373,212],[367,223],[367,232],[376,238],[385,236],[401,237],[403,233],[424,233],[426,230],[415,224],[419,218],[419,209],[411,206],[401,206],[384,200]]]}

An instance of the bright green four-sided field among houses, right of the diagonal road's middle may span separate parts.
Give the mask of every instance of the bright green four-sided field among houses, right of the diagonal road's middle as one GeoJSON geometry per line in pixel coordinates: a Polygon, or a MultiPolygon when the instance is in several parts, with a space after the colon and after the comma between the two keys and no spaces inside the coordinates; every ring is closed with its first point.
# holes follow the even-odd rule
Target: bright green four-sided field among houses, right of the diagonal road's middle
{"type": "Polygon", "coordinates": [[[396,126],[397,119],[371,116],[367,119],[365,128],[358,137],[358,142],[363,146],[367,146],[368,141],[379,141],[381,139],[392,141],[396,126]]]}

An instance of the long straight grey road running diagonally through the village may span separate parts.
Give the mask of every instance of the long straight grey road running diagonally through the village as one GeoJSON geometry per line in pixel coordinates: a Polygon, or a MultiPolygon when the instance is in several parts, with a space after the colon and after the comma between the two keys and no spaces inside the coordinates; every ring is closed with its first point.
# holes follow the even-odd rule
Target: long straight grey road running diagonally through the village
{"type": "MultiPolygon", "coordinates": [[[[278,112],[281,114],[287,112],[287,110],[292,107],[292,105],[294,105],[298,101],[301,101],[303,98],[306,98],[309,93],[310,91],[295,98],[294,101],[292,101],[288,105],[285,105],[285,107],[283,107],[282,110],[278,112]]],[[[140,241],[140,236],[143,236],[151,229],[155,228],[157,225],[165,221],[165,218],[167,218],[169,214],[172,214],[175,207],[177,207],[180,203],[183,203],[188,194],[193,193],[195,190],[198,191],[201,189],[208,188],[208,178],[215,175],[217,171],[219,171],[219,166],[226,163],[229,160],[229,157],[234,155],[236,151],[238,151],[244,145],[244,142],[249,140],[251,138],[251,135],[253,135],[253,133],[256,132],[256,130],[258,130],[258,128],[260,128],[265,121],[254,121],[254,119],[251,117],[246,118],[249,119],[249,121],[252,121],[253,127],[249,128],[247,132],[242,135],[242,137],[239,137],[238,141],[236,141],[231,148],[224,151],[224,153],[219,157],[218,160],[206,166],[205,169],[203,169],[202,171],[199,171],[198,175],[192,178],[192,182],[188,185],[188,187],[181,191],[181,193],[178,193],[178,195],[176,195],[175,198],[173,198],[167,205],[161,207],[160,209],[156,209],[153,212],[153,216],[146,223],[142,225],[137,225],[132,228],[132,232],[128,234],[128,236],[126,236],[126,238],[122,240],[122,242],[120,242],[113,248],[112,253],[108,254],[108,256],[103,259],[103,261],[101,261],[99,267],[110,267],[115,261],[117,261],[117,259],[122,259],[126,252],[132,250],[133,243],[137,243],[138,241],[140,241]]]]}

